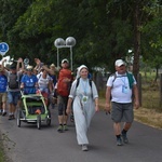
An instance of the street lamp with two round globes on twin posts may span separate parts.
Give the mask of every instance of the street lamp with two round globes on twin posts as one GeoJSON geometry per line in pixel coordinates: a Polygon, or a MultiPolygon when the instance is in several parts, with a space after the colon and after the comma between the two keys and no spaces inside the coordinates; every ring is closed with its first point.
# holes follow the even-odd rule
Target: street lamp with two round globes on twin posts
{"type": "Polygon", "coordinates": [[[63,38],[57,38],[54,41],[54,45],[57,48],[57,67],[59,66],[59,49],[69,48],[70,49],[70,66],[72,70],[72,46],[76,45],[76,39],[73,37],[68,37],[66,40],[63,38]]]}

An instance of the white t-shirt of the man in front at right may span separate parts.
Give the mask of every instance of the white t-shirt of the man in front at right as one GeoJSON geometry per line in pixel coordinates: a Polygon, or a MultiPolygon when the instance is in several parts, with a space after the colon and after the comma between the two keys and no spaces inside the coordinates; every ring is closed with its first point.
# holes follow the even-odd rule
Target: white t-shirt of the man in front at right
{"type": "MultiPolygon", "coordinates": [[[[107,81],[107,86],[111,86],[111,102],[116,103],[131,103],[132,102],[132,89],[130,89],[129,79],[126,73],[118,75],[117,77],[110,76],[107,81]]],[[[136,80],[134,79],[134,84],[136,84],[136,80]]]]}

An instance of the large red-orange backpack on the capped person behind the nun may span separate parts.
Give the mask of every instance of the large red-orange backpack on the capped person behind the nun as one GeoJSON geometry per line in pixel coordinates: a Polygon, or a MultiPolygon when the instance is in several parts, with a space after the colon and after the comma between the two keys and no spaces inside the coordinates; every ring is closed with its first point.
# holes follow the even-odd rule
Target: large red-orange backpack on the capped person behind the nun
{"type": "Polygon", "coordinates": [[[72,81],[72,73],[69,69],[62,69],[58,75],[57,81],[57,94],[60,96],[68,96],[71,87],[71,82],[66,83],[64,79],[70,79],[72,81]]]}

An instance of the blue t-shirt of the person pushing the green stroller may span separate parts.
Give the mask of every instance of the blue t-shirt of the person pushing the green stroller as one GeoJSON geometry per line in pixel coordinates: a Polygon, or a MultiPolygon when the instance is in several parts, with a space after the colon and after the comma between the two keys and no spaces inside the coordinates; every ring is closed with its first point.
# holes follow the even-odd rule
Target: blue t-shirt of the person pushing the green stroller
{"type": "Polygon", "coordinates": [[[38,82],[38,79],[35,75],[23,76],[21,82],[24,83],[24,94],[35,94],[36,93],[35,85],[38,82]]]}

